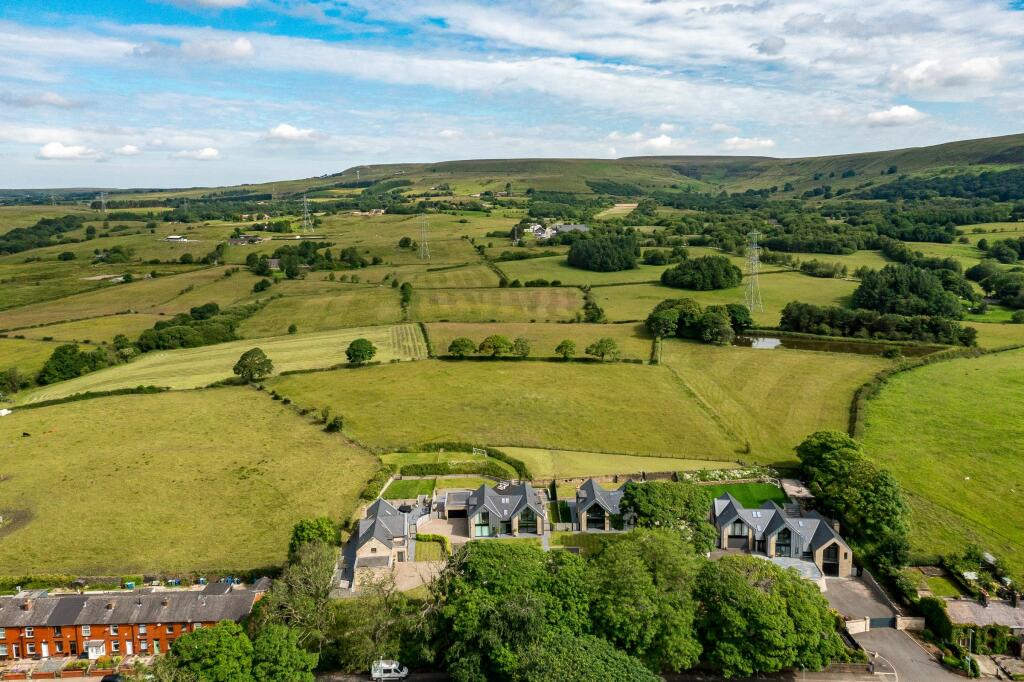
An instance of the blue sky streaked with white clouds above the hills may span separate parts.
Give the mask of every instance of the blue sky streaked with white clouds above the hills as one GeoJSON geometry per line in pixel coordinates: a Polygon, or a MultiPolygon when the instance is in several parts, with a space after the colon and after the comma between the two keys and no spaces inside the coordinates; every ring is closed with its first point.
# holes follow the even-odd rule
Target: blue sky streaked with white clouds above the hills
{"type": "Polygon", "coordinates": [[[1022,37],[977,0],[4,0],[0,186],[1009,134],[1022,37]]]}

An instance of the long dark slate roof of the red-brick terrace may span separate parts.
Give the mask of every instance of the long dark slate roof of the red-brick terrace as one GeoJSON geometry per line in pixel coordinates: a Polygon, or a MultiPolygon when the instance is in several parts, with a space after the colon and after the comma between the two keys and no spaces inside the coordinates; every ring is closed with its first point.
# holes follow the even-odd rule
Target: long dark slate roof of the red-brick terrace
{"type": "Polygon", "coordinates": [[[261,594],[234,587],[223,594],[188,590],[32,597],[23,593],[0,597],[0,628],[241,621],[261,594]]]}

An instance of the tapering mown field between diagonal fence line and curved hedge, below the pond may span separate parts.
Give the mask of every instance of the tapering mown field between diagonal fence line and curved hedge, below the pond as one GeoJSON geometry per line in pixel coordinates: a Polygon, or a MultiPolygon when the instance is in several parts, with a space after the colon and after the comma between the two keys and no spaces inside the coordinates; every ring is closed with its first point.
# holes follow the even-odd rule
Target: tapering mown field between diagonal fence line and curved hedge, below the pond
{"type": "Polygon", "coordinates": [[[820,429],[844,430],[853,392],[891,360],[852,353],[719,347],[666,340],[663,364],[727,432],[751,444],[739,459],[793,462],[820,429]]]}

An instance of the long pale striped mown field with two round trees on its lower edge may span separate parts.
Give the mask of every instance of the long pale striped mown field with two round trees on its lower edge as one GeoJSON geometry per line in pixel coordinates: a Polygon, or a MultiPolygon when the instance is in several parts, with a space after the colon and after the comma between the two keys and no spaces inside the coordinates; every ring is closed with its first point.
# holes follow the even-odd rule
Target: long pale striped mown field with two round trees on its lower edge
{"type": "Polygon", "coordinates": [[[386,363],[426,356],[426,346],[415,325],[290,334],[258,341],[246,339],[215,346],[150,352],[126,365],[19,393],[17,398],[23,403],[36,402],[86,391],[151,385],[199,388],[232,377],[231,368],[239,356],[253,347],[263,349],[273,361],[276,373],[327,368],[347,361],[345,349],[359,337],[370,339],[377,346],[376,360],[386,363]]]}

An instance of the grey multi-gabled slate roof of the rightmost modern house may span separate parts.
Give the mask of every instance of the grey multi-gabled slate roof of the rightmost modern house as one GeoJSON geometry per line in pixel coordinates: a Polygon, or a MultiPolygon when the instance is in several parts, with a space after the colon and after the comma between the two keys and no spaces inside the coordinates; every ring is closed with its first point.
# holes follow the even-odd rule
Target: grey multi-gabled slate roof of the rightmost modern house
{"type": "Polygon", "coordinates": [[[831,522],[815,511],[803,512],[800,516],[793,517],[774,502],[766,502],[756,509],[748,509],[728,493],[723,493],[715,499],[712,520],[719,531],[737,518],[754,528],[755,540],[766,540],[777,535],[782,528],[788,528],[793,545],[800,553],[816,552],[833,540],[838,540],[843,546],[847,546],[843,538],[833,528],[831,522]]]}

